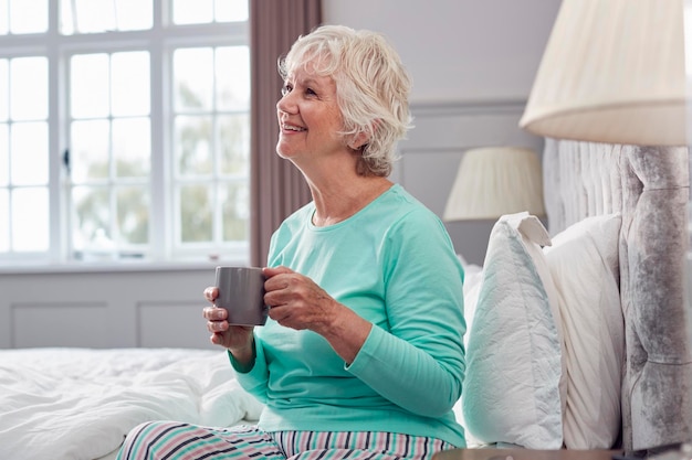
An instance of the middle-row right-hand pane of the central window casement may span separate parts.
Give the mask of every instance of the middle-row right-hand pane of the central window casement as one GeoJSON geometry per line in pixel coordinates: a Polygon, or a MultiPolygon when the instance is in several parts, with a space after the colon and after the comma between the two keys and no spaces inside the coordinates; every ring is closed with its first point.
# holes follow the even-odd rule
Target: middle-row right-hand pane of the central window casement
{"type": "Polygon", "coordinates": [[[151,158],[151,133],[148,118],[113,121],[113,157],[120,178],[146,176],[151,158]]]}

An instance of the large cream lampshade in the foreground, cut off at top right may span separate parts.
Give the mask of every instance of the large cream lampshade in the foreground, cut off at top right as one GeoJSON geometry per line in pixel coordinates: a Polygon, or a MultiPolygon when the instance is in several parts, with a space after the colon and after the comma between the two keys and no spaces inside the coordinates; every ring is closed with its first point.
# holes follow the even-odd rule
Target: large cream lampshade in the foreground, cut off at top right
{"type": "Polygon", "coordinates": [[[683,0],[563,0],[520,126],[685,146],[683,0]]]}

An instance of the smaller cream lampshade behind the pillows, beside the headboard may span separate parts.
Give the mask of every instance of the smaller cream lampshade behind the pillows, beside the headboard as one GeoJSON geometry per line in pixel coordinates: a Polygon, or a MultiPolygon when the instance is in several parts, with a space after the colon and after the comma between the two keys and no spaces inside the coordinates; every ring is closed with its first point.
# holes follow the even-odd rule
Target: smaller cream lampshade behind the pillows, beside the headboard
{"type": "Polygon", "coordinates": [[[527,211],[545,215],[543,176],[535,151],[520,147],[468,150],[444,207],[444,221],[494,220],[527,211]]]}

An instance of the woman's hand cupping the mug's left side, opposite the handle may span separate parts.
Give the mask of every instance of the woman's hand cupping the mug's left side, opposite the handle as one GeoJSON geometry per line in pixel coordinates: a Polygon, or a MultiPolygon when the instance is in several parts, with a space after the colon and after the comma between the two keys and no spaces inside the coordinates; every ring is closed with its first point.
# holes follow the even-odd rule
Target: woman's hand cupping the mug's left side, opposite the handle
{"type": "Polygon", "coordinates": [[[211,343],[227,347],[238,362],[249,363],[253,359],[254,327],[229,324],[228,311],[213,306],[217,297],[219,297],[217,287],[205,289],[205,298],[212,303],[212,307],[202,310],[202,315],[207,319],[207,329],[211,332],[211,343]]]}

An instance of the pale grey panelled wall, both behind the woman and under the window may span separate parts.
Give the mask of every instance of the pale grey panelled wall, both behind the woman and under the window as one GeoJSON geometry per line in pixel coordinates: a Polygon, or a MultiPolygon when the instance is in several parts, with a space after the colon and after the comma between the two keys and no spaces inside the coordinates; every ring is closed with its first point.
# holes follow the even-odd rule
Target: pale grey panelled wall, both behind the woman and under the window
{"type": "MultiPolygon", "coordinates": [[[[463,152],[542,147],[517,128],[558,0],[324,0],[325,22],[380,31],[413,77],[416,128],[392,179],[440,214],[463,152]]],[[[492,222],[448,223],[482,263],[492,222]]],[[[12,270],[10,270],[12,271],[12,270]]],[[[0,272],[0,349],[209,345],[202,289],[213,265],[0,272]]]]}

